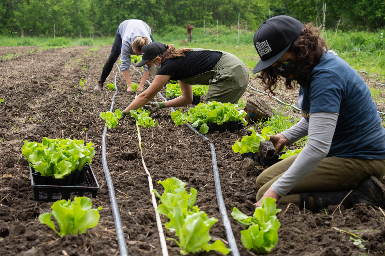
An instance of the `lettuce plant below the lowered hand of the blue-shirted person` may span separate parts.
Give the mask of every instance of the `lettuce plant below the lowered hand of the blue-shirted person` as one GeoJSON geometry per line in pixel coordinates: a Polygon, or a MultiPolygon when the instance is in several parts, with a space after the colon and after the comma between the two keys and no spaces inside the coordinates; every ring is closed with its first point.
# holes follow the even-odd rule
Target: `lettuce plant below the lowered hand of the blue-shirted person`
{"type": "Polygon", "coordinates": [[[281,210],[276,209],[275,199],[266,197],[262,200],[262,206],[257,207],[253,216],[248,216],[236,207],[231,216],[247,230],[241,231],[241,242],[248,250],[253,248],[258,253],[269,253],[278,242],[278,229],[281,224],[276,214],[281,210]]]}

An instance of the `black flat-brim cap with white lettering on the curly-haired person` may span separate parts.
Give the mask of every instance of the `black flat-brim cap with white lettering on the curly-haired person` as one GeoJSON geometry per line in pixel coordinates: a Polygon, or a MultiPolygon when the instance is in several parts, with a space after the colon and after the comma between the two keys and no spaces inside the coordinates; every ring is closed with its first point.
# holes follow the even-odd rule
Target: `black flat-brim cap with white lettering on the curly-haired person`
{"type": "Polygon", "coordinates": [[[254,47],[261,60],[256,64],[253,73],[278,61],[301,34],[303,28],[300,21],[286,15],[263,21],[254,35],[254,47]]]}

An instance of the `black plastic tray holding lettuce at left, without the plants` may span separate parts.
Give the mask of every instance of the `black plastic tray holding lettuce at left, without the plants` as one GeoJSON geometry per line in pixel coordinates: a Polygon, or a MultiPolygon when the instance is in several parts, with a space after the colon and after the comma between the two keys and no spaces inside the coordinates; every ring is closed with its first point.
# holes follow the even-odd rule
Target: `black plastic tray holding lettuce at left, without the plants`
{"type": "Polygon", "coordinates": [[[92,171],[90,165],[85,165],[87,168],[84,172],[79,173],[78,181],[82,181],[76,185],[61,186],[61,185],[37,185],[35,183],[35,175],[33,168],[29,167],[31,176],[31,185],[33,188],[33,198],[35,201],[53,202],[61,199],[73,199],[74,197],[96,197],[97,190],[99,190],[99,184],[95,178],[95,174],[92,171]]]}

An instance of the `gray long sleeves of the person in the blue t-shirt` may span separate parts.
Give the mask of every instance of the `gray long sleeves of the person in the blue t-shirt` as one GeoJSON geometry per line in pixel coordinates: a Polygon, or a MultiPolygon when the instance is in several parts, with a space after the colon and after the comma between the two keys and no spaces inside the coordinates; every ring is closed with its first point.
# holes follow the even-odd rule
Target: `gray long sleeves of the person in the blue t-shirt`
{"type": "Polygon", "coordinates": [[[338,120],[338,113],[314,112],[309,122],[301,119],[295,126],[281,132],[292,144],[309,135],[308,142],[288,170],[276,180],[271,189],[285,196],[300,180],[316,168],[329,152],[338,120]]]}

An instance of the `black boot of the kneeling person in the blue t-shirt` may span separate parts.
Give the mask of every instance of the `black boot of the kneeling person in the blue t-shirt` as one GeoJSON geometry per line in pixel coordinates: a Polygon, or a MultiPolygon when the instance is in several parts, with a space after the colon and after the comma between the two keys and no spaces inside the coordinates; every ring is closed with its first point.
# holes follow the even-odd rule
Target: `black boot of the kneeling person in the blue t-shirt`
{"type": "MultiPolygon", "coordinates": [[[[318,212],[329,205],[338,205],[350,190],[323,191],[323,192],[304,192],[300,193],[302,208],[304,207],[313,212],[318,212]],[[315,201],[315,209],[309,204],[309,197],[315,201]],[[305,202],[305,203],[304,203],[305,202]]],[[[366,203],[367,205],[385,208],[385,188],[374,175],[370,175],[343,200],[341,205],[345,208],[352,208],[356,203],[366,203]]]]}

